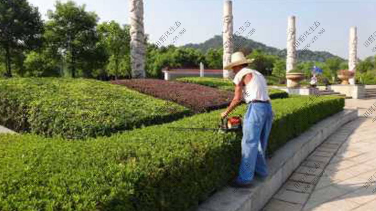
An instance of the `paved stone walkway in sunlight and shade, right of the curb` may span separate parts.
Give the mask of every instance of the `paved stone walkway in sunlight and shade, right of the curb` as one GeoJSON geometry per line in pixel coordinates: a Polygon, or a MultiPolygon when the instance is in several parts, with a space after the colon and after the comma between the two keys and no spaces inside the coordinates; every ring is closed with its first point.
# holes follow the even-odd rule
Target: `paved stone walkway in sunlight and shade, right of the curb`
{"type": "Polygon", "coordinates": [[[375,211],[376,193],[372,189],[376,187],[376,122],[371,119],[376,112],[368,118],[363,116],[375,101],[346,99],[345,107],[359,108],[359,118],[318,146],[263,211],[375,211]],[[322,170],[325,172],[320,176],[322,170]],[[370,185],[367,188],[366,182],[370,185]],[[302,193],[304,188],[308,190],[302,193]]]}

